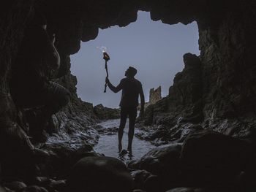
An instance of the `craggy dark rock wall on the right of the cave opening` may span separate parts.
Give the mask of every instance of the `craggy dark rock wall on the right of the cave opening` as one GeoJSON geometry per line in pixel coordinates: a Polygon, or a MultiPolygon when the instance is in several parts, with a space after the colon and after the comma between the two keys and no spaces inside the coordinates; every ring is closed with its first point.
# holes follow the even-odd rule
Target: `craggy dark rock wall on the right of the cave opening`
{"type": "Polygon", "coordinates": [[[146,125],[167,124],[167,131],[174,139],[182,135],[178,129],[187,130],[195,125],[252,138],[255,130],[252,7],[255,7],[252,1],[236,1],[222,14],[218,12],[214,20],[195,19],[200,35],[198,66],[189,69],[185,64],[184,71],[176,74],[167,98],[146,111],[146,125]]]}

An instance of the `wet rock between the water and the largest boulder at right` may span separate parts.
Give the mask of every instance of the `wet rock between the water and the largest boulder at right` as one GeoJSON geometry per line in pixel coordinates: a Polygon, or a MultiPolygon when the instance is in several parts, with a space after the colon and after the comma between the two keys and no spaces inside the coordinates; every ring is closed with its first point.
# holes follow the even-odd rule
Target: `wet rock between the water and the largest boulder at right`
{"type": "MultiPolygon", "coordinates": [[[[144,169],[157,177],[147,178],[146,183],[148,188],[154,188],[151,183],[161,186],[161,190],[170,188],[173,185],[180,183],[181,172],[181,144],[171,144],[161,147],[156,147],[150,150],[146,155],[140,158],[139,161],[129,162],[129,168],[144,169]]],[[[156,188],[154,188],[156,189],[156,188]]],[[[150,189],[149,189],[150,190],[150,189]]]]}

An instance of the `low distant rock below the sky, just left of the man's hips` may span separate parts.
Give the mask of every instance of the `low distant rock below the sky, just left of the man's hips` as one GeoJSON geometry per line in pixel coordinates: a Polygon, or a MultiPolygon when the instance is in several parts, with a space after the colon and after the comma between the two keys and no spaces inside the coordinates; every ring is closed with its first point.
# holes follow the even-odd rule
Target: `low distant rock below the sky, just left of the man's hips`
{"type": "Polygon", "coordinates": [[[104,107],[102,104],[98,104],[94,107],[94,114],[100,120],[120,118],[120,110],[119,109],[111,109],[108,107],[104,107]]]}

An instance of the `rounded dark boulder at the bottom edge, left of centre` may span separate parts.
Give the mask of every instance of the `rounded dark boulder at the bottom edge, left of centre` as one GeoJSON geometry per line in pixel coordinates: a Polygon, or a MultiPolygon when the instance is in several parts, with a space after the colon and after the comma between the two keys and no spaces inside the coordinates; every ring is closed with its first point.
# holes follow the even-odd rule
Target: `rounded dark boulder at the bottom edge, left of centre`
{"type": "Polygon", "coordinates": [[[69,191],[132,191],[132,177],[117,158],[82,158],[67,180],[69,191]],[[97,185],[95,185],[97,183],[97,185]]]}

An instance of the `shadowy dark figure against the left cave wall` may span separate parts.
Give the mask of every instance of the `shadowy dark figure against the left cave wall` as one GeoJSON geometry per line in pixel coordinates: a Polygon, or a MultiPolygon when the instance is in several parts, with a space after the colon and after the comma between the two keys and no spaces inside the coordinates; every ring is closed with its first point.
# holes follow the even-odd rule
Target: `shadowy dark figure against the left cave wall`
{"type": "Polygon", "coordinates": [[[55,35],[49,37],[46,29],[45,18],[36,12],[24,33],[10,81],[12,99],[27,111],[34,142],[45,141],[46,122],[70,99],[66,88],[50,81],[51,74],[59,69],[60,57],[54,45],[55,35]]]}

